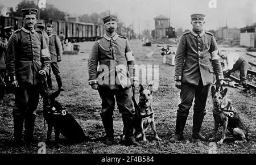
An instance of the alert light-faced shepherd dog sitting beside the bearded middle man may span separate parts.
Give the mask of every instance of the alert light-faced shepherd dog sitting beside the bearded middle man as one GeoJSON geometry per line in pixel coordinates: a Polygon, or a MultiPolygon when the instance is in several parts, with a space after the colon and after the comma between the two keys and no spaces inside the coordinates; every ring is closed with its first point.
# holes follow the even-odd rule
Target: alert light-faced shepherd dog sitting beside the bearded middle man
{"type": "Polygon", "coordinates": [[[144,142],[147,141],[145,132],[148,128],[148,125],[151,125],[151,128],[154,132],[155,139],[157,141],[162,141],[158,137],[155,128],[155,118],[154,118],[154,110],[152,108],[152,85],[148,85],[148,88],[144,90],[143,86],[139,84],[139,104],[137,104],[134,96],[132,96],[132,100],[135,108],[135,120],[134,120],[134,136],[135,138],[139,138],[142,136],[144,142]]]}

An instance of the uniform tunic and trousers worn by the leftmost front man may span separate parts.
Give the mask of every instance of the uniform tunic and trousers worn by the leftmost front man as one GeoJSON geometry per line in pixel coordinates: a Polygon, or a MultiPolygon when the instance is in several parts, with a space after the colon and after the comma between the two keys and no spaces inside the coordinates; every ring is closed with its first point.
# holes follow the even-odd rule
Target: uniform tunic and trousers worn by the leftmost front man
{"type": "Polygon", "coordinates": [[[16,115],[33,113],[39,101],[40,70],[48,74],[51,59],[42,32],[24,27],[11,35],[6,53],[6,69],[11,81],[17,80],[16,115]]]}

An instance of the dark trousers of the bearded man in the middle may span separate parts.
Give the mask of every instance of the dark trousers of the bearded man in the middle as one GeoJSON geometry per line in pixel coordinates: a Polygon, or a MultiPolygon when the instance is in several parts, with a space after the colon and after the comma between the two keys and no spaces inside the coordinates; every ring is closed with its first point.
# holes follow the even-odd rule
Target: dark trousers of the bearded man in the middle
{"type": "Polygon", "coordinates": [[[124,116],[132,115],[133,103],[131,101],[131,90],[130,88],[120,89],[120,90],[110,90],[109,88],[101,88],[98,90],[100,97],[102,99],[102,109],[101,115],[112,116],[115,100],[117,101],[117,106],[119,112],[124,116]]]}

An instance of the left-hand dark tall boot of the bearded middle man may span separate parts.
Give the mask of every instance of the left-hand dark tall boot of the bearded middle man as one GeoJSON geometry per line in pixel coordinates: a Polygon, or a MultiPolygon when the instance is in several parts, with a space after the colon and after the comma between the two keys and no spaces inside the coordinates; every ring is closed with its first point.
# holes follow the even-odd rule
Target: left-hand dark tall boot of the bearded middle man
{"type": "Polygon", "coordinates": [[[113,117],[112,115],[102,115],[102,124],[104,126],[106,132],[106,145],[113,145],[114,144],[114,128],[113,128],[113,117]]]}

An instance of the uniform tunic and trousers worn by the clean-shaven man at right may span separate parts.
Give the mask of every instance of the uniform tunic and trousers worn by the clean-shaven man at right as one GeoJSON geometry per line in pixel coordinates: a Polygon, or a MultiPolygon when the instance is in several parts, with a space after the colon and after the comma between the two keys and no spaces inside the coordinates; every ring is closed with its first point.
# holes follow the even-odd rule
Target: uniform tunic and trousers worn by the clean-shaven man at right
{"type": "Polygon", "coordinates": [[[195,97],[194,113],[205,114],[209,86],[223,79],[216,40],[212,33],[183,33],[175,55],[175,81],[181,81],[181,103],[177,113],[187,116],[195,97]]]}

